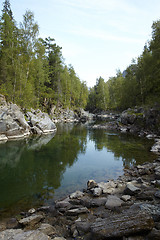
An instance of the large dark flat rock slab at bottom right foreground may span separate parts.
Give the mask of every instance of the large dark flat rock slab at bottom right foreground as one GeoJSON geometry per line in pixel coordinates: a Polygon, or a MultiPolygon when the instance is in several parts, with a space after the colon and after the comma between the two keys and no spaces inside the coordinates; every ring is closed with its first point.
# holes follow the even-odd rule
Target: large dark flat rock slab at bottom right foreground
{"type": "Polygon", "coordinates": [[[142,211],[115,214],[105,219],[97,219],[91,224],[93,239],[118,238],[132,236],[152,230],[152,217],[142,211]]]}

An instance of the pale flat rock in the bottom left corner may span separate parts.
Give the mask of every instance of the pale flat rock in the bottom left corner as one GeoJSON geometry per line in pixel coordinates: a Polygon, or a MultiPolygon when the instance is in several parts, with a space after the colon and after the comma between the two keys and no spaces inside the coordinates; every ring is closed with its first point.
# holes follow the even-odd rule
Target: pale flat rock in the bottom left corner
{"type": "Polygon", "coordinates": [[[50,240],[51,238],[44,233],[36,231],[26,231],[21,229],[9,229],[0,232],[1,240],[50,240]]]}

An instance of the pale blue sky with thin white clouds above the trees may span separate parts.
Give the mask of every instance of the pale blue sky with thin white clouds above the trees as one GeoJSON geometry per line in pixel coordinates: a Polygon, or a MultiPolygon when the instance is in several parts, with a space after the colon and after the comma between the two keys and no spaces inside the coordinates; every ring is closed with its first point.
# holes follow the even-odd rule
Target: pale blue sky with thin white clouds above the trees
{"type": "MultiPolygon", "coordinates": [[[[124,71],[151,39],[152,23],[160,19],[160,0],[10,0],[19,24],[26,10],[34,13],[39,36],[62,47],[88,87],[100,76],[107,81],[124,71]]],[[[0,3],[2,9],[2,0],[0,3]]]]}

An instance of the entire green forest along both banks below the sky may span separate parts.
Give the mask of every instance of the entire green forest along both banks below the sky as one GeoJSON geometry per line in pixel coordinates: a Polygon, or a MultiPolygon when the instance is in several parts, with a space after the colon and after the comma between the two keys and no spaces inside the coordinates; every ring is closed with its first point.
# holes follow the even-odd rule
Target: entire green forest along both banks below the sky
{"type": "Polygon", "coordinates": [[[55,39],[39,38],[33,12],[27,10],[18,26],[5,0],[0,16],[0,94],[22,108],[44,111],[53,105],[93,112],[159,103],[160,20],[153,22],[151,40],[127,69],[107,81],[99,77],[88,89],[74,67],[65,64],[55,39]]]}

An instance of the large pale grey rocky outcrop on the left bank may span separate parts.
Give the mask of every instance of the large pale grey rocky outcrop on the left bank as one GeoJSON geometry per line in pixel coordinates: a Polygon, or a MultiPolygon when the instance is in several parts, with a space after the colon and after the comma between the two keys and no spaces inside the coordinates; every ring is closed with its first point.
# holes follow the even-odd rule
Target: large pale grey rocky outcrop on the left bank
{"type": "Polygon", "coordinates": [[[0,95],[0,141],[19,139],[30,134],[47,134],[55,132],[56,126],[48,114],[40,110],[31,110],[25,115],[13,103],[7,103],[0,95]]]}

